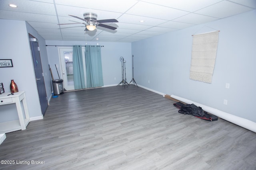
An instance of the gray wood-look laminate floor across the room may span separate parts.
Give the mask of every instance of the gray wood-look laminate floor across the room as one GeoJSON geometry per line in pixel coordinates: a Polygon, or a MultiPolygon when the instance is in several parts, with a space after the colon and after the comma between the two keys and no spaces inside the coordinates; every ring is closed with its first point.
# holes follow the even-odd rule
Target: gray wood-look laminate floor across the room
{"type": "Polygon", "coordinates": [[[133,85],[66,92],[51,99],[44,119],[6,134],[0,160],[15,162],[0,168],[256,169],[256,133],[182,115],[173,103],[133,85]],[[44,164],[32,164],[38,160],[44,164]]]}

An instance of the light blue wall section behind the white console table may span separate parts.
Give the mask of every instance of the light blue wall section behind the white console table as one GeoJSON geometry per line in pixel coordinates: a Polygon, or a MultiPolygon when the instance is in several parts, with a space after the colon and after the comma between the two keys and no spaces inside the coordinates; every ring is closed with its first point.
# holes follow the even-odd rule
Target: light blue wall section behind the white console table
{"type": "MultiPolygon", "coordinates": [[[[30,117],[41,116],[26,22],[0,20],[0,25],[0,59],[12,59],[13,62],[13,67],[0,68],[0,82],[6,93],[10,93],[10,80],[13,79],[18,89],[26,92],[30,117]]],[[[0,122],[18,119],[15,105],[0,107],[0,122]]]]}

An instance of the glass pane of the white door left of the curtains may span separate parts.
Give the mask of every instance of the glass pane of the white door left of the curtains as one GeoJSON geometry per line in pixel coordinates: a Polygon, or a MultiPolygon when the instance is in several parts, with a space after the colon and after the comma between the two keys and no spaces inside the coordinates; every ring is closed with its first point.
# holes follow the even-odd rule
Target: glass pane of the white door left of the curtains
{"type": "Polygon", "coordinates": [[[68,78],[68,85],[74,85],[73,78],[73,52],[64,51],[65,65],[66,65],[66,74],[68,78]]]}

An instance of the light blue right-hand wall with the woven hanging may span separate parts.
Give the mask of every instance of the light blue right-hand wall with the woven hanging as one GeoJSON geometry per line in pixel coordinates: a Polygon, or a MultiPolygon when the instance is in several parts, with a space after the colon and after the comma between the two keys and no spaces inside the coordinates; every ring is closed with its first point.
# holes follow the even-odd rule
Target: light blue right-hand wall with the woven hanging
{"type": "Polygon", "coordinates": [[[164,94],[256,122],[256,10],[132,43],[134,78],[164,94]],[[211,27],[211,28],[210,28],[211,27]],[[193,34],[220,30],[212,83],[189,78],[193,34]],[[148,80],[150,83],[148,83],[148,80]],[[230,83],[230,89],[226,89],[230,83]],[[224,99],[228,105],[224,105],[224,99]]]}

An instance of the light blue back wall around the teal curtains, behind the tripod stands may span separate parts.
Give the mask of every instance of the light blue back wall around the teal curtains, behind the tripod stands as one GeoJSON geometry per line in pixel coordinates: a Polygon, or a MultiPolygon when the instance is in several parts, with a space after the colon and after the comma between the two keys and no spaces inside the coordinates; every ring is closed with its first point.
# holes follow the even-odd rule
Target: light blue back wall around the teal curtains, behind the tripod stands
{"type": "MultiPolygon", "coordinates": [[[[48,41],[46,45],[85,45],[85,41],[48,41]]],[[[87,45],[96,45],[96,42],[87,42],[87,45]]],[[[126,60],[126,79],[132,79],[132,47],[131,43],[114,43],[114,42],[99,42],[102,55],[102,72],[104,86],[116,85],[122,80],[122,66],[120,57],[126,60]],[[115,79],[116,78],[116,79],[115,79]]],[[[58,73],[62,78],[60,70],[60,59],[58,55],[58,47],[47,46],[48,61],[52,69],[54,79],[58,79],[58,73]],[[58,73],[55,68],[58,66],[58,73]]],[[[128,82],[129,83],[129,82],[128,82]]]]}

